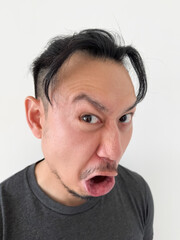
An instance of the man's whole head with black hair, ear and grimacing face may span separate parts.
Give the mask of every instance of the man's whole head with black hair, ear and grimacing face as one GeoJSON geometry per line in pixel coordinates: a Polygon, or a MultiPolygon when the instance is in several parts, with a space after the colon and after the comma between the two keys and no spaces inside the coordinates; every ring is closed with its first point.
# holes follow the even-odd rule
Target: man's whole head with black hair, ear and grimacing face
{"type": "Polygon", "coordinates": [[[46,178],[72,197],[69,204],[108,193],[131,138],[135,106],[146,94],[140,55],[105,31],[85,30],[54,39],[35,60],[33,75],[36,99],[26,99],[26,113],[42,139],[46,178]],[[126,57],[138,76],[137,96],[126,57]]]}

